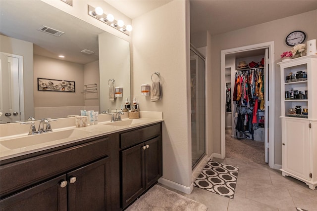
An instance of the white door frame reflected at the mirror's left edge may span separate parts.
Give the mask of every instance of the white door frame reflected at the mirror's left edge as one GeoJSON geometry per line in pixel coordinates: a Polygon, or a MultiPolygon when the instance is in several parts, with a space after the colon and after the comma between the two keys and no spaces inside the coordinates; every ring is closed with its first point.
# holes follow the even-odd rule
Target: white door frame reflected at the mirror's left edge
{"type": "MultiPolygon", "coordinates": [[[[5,53],[1,52],[6,56],[9,57],[14,57],[18,59],[18,66],[19,66],[19,103],[20,103],[20,121],[25,120],[25,115],[24,115],[24,76],[23,76],[23,56],[12,54],[12,53],[5,53]]],[[[2,80],[2,78],[0,78],[2,80]]],[[[2,90],[0,93],[2,97],[2,90]]],[[[2,106],[1,106],[2,107],[2,106]]]]}

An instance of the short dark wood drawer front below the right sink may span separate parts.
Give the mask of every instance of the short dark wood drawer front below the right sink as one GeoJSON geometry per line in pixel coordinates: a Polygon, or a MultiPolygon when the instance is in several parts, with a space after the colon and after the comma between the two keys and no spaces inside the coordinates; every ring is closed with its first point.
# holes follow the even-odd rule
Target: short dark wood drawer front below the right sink
{"type": "Polygon", "coordinates": [[[149,140],[161,134],[161,124],[156,124],[149,127],[143,127],[130,132],[120,134],[120,148],[132,146],[149,140]]]}

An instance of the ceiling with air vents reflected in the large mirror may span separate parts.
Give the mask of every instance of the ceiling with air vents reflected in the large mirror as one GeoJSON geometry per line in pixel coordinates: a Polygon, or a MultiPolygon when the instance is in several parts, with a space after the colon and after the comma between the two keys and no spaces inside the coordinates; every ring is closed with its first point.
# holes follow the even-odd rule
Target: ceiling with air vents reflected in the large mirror
{"type": "Polygon", "coordinates": [[[34,43],[34,54],[55,59],[62,54],[66,57],[61,60],[79,64],[99,60],[98,35],[104,30],[40,0],[0,0],[0,3],[1,35],[34,43]],[[38,31],[43,25],[65,34],[55,37],[38,31]],[[94,53],[82,53],[84,49],[94,53]]]}

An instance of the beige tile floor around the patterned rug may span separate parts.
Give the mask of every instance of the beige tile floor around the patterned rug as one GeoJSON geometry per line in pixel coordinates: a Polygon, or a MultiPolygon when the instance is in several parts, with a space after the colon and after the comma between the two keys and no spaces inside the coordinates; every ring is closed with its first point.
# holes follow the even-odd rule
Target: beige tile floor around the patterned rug
{"type": "Polygon", "coordinates": [[[317,211],[317,189],[284,177],[279,170],[231,158],[212,160],[239,167],[234,199],[197,187],[191,194],[173,191],[206,205],[208,211],[317,211]]]}

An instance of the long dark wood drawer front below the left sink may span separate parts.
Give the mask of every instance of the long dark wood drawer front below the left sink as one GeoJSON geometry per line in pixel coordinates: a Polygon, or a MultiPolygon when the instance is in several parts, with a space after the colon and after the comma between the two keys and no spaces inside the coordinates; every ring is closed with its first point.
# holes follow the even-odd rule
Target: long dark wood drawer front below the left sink
{"type": "Polygon", "coordinates": [[[108,137],[0,167],[1,198],[109,154],[108,137]]]}

